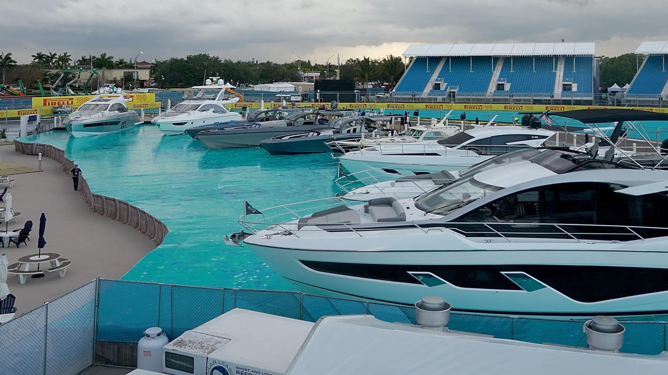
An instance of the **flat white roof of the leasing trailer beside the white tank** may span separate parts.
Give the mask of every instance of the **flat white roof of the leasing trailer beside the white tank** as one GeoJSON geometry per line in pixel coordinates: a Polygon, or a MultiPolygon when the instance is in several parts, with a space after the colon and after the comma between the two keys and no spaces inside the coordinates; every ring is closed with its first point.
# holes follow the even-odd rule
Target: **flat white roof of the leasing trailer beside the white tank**
{"type": "Polygon", "coordinates": [[[312,322],[235,308],[165,348],[282,374],[312,327],[312,322]]]}

